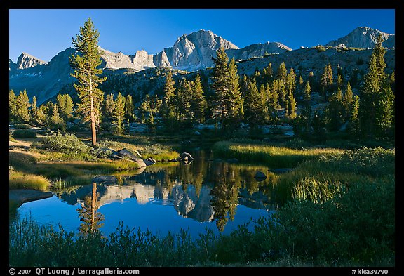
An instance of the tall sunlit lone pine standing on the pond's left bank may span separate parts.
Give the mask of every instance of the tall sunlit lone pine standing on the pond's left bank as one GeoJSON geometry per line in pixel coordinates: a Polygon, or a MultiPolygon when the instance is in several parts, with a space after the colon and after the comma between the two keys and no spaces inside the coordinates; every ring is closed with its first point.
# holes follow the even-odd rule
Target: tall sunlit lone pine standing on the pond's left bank
{"type": "Polygon", "coordinates": [[[82,114],[83,121],[90,121],[91,143],[97,144],[97,133],[95,127],[100,124],[100,107],[104,100],[104,92],[97,88],[107,78],[100,78],[102,70],[97,68],[101,65],[100,52],[97,46],[99,32],[94,29],[90,18],[80,27],[80,34],[76,39],[72,38],[72,44],[77,55],[71,55],[69,63],[74,68],[72,77],[79,81],[74,88],[79,94],[80,103],[77,105],[77,112],[82,114]]]}

